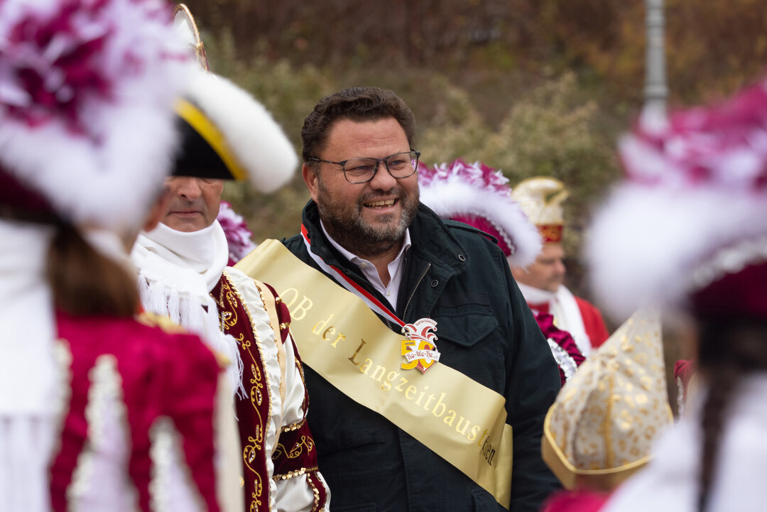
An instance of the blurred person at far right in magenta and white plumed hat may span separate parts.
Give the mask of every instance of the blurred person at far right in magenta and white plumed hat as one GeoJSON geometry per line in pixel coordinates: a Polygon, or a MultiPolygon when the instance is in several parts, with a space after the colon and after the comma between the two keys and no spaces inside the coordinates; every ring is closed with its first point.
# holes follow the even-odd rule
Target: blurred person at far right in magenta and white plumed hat
{"type": "Polygon", "coordinates": [[[608,313],[657,304],[696,330],[696,393],[653,460],[603,510],[749,512],[767,503],[767,81],[713,107],[644,118],[594,220],[608,313]]]}

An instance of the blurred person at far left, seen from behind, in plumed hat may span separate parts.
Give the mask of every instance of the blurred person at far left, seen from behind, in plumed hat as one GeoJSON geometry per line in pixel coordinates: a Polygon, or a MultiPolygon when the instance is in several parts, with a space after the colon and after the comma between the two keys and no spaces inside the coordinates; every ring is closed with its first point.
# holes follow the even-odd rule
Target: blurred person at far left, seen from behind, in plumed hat
{"type": "Polygon", "coordinates": [[[6,0],[0,20],[0,510],[237,510],[219,362],[139,314],[127,257],[193,66],[170,5],[6,0]]]}

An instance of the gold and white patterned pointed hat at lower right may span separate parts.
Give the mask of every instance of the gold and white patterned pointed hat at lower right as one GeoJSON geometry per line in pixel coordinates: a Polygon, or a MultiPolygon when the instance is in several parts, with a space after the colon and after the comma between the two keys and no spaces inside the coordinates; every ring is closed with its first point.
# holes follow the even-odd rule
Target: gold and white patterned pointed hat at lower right
{"type": "Polygon", "coordinates": [[[640,310],[562,387],[545,418],[543,459],[568,489],[611,491],[671,422],[660,317],[640,310]]]}

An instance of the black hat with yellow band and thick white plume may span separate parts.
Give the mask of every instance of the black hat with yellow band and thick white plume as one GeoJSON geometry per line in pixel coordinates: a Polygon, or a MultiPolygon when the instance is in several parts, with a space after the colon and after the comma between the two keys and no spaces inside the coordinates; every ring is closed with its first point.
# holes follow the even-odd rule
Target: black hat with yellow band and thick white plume
{"type": "Polygon", "coordinates": [[[173,175],[249,181],[265,193],[285,185],[298,167],[288,137],[248,92],[207,72],[205,49],[185,5],[176,8],[174,24],[202,69],[176,107],[182,149],[173,175]]]}

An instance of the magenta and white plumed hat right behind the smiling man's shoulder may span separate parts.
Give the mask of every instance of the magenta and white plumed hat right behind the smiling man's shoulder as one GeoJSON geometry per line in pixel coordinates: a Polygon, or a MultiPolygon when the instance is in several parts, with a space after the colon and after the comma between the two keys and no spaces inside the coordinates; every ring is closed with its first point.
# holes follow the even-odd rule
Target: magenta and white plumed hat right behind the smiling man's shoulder
{"type": "Polygon", "coordinates": [[[541,238],[519,205],[500,171],[482,162],[463,160],[439,166],[418,166],[423,204],[442,218],[466,222],[498,239],[515,267],[526,267],[541,251],[541,238]]]}

